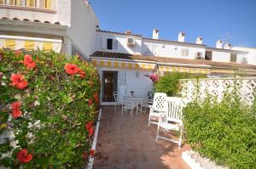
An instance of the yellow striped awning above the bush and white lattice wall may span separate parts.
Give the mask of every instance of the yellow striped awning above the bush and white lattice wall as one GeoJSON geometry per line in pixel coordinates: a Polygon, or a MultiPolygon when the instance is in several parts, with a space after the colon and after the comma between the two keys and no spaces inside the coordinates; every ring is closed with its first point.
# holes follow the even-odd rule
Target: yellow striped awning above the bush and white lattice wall
{"type": "Polygon", "coordinates": [[[171,67],[160,66],[160,72],[179,72],[179,73],[198,73],[198,74],[210,74],[211,70],[206,68],[192,68],[192,67],[171,67]]]}

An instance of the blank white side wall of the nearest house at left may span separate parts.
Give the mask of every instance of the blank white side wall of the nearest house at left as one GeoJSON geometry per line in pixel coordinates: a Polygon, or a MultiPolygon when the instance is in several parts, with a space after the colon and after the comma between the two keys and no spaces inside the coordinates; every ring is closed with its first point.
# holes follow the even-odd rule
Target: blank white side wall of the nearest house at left
{"type": "Polygon", "coordinates": [[[71,25],[67,28],[67,37],[89,59],[90,54],[96,51],[96,14],[90,5],[86,7],[84,1],[80,0],[73,0],[71,8],[71,25]]]}

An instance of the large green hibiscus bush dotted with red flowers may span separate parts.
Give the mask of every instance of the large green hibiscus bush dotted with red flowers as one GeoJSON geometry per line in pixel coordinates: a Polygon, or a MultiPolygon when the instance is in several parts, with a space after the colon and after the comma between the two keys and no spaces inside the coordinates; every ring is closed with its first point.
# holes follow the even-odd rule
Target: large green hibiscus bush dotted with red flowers
{"type": "Polygon", "coordinates": [[[96,69],[78,57],[0,52],[0,167],[84,166],[99,90],[96,69]]]}

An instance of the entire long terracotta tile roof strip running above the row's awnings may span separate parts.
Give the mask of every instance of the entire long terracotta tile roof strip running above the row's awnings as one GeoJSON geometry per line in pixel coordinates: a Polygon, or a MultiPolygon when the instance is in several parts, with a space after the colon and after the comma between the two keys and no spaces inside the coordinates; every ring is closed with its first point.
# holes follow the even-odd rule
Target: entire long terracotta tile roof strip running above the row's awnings
{"type": "Polygon", "coordinates": [[[123,53],[109,53],[97,51],[90,55],[96,58],[107,58],[107,59],[137,59],[145,61],[155,61],[160,62],[159,64],[187,64],[187,65],[210,65],[212,68],[224,68],[224,69],[253,69],[256,70],[256,65],[248,64],[238,64],[231,62],[217,62],[204,59],[178,59],[178,58],[168,58],[160,56],[144,56],[140,54],[123,54],[123,53]]]}

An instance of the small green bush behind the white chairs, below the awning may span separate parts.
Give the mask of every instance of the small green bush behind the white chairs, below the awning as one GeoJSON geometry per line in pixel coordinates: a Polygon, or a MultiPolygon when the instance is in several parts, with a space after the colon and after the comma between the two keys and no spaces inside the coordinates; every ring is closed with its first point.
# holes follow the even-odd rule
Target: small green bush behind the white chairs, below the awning
{"type": "Polygon", "coordinates": [[[180,79],[191,79],[205,77],[201,74],[189,74],[189,73],[167,73],[165,76],[160,76],[158,82],[154,84],[155,92],[166,93],[167,96],[177,96],[180,91],[180,79]]]}

